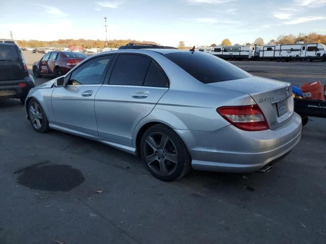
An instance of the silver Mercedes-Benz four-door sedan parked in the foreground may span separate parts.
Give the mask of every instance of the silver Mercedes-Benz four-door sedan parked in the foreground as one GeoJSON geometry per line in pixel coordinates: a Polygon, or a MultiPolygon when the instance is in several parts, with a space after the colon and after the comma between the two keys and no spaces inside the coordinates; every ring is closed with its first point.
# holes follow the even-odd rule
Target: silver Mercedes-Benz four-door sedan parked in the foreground
{"type": "Polygon", "coordinates": [[[155,177],[266,168],[300,140],[290,83],[252,76],[211,54],[123,49],[85,59],[31,89],[26,112],[51,129],[140,155],[155,177]]]}

